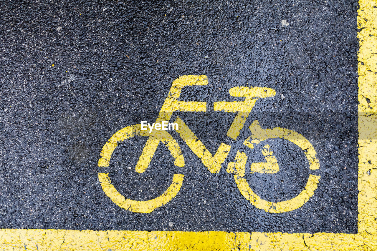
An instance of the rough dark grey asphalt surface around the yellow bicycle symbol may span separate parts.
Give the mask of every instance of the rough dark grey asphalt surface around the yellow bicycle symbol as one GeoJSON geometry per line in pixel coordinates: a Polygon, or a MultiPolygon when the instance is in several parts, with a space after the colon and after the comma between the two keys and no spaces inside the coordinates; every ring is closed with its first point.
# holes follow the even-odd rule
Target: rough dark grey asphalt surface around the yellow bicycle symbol
{"type": "MultiPolygon", "coordinates": [[[[357,233],[357,1],[246,2],[0,3],[0,227],[357,233]],[[225,171],[234,151],[211,174],[176,132],[183,170],[159,146],[137,174],[146,138],[124,142],[99,170],[107,139],[154,122],[172,81],[189,74],[209,84],[184,89],[181,100],[207,101],[208,112],[172,119],[181,116],[212,153],[233,144],[225,134],[234,117],[213,112],[213,101],[236,100],[233,86],[276,90],[257,101],[247,125],[258,119],[313,144],[321,179],[307,204],[256,209],[225,171]],[[131,213],[104,194],[98,171],[133,199],[161,194],[173,173],[185,180],[170,203],[131,213]]],[[[250,174],[249,183],[262,198],[294,197],[310,173],[305,155],[287,142],[270,145],[282,171],[250,174]]]]}

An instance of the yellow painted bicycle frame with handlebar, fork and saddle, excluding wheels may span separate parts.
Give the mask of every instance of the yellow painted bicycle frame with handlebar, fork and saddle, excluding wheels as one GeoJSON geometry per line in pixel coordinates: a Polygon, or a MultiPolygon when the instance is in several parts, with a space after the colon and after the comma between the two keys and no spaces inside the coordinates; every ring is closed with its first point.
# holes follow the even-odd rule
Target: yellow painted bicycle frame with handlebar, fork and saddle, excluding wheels
{"type": "MultiPolygon", "coordinates": [[[[159,116],[156,119],[156,123],[161,121],[170,121],[173,112],[206,112],[207,103],[198,101],[178,101],[179,95],[185,86],[205,86],[208,84],[208,79],[205,75],[201,76],[182,76],[173,81],[172,87],[170,87],[169,94],[161,107],[159,116]]],[[[244,101],[221,101],[213,103],[213,110],[225,112],[237,113],[230,128],[228,129],[227,136],[236,140],[239,132],[243,128],[247,117],[249,116],[251,109],[253,109],[256,101],[259,98],[273,97],[275,96],[275,90],[267,87],[232,87],[229,90],[231,96],[244,97],[244,101]]],[[[230,152],[231,146],[224,142],[220,144],[215,155],[206,149],[204,144],[195,136],[195,134],[189,129],[189,127],[180,119],[176,118],[174,123],[178,124],[179,136],[186,142],[190,149],[195,153],[202,163],[211,173],[219,173],[221,170],[221,164],[225,161],[230,152]]],[[[136,164],[136,171],[143,173],[156,151],[159,144],[159,140],[154,136],[149,136],[146,145],[143,148],[143,152],[136,164]]]]}

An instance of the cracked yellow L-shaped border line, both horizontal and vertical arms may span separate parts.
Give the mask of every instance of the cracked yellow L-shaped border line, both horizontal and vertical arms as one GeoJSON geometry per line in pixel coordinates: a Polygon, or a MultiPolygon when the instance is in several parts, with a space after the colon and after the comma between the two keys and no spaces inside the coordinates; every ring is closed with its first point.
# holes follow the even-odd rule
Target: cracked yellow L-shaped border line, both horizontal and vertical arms
{"type": "Polygon", "coordinates": [[[377,250],[377,1],[360,0],[359,5],[357,234],[1,229],[0,249],[377,250]]]}

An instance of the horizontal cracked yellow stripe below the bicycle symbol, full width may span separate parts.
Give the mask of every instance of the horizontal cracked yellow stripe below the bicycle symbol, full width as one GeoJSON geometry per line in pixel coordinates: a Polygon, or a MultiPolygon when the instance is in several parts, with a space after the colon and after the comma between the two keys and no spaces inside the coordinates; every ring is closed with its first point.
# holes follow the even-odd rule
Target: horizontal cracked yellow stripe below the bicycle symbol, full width
{"type": "Polygon", "coordinates": [[[2,250],[377,250],[369,234],[2,229],[0,236],[2,250]]]}

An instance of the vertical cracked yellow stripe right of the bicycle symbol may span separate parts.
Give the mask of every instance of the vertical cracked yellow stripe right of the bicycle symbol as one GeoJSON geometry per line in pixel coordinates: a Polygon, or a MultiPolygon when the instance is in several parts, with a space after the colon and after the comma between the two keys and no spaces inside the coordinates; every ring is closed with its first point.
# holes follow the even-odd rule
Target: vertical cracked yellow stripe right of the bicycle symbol
{"type": "Polygon", "coordinates": [[[359,49],[359,224],[377,235],[377,1],[360,0],[359,49]]]}

